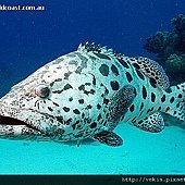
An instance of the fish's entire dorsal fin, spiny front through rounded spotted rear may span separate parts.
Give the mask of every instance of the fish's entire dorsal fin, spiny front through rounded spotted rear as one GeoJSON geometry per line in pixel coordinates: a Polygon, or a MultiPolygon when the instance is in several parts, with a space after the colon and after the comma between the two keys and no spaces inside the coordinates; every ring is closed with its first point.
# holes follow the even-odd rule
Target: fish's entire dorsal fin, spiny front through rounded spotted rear
{"type": "MultiPolygon", "coordinates": [[[[112,49],[107,49],[107,47],[101,47],[100,45],[96,45],[95,42],[85,45],[79,45],[77,48],[78,51],[82,52],[94,52],[101,59],[109,59],[109,57],[113,57],[118,59],[118,61],[123,65],[130,64],[134,65],[137,70],[139,70],[143,74],[149,77],[153,84],[157,84],[158,87],[168,89],[170,86],[169,77],[166,76],[162,66],[150,59],[138,57],[138,58],[128,58],[124,54],[116,53],[112,49]],[[126,61],[125,61],[126,59],[126,61]],[[123,62],[124,61],[124,62],[123,62]]],[[[125,65],[124,65],[125,66],[125,65]]]]}

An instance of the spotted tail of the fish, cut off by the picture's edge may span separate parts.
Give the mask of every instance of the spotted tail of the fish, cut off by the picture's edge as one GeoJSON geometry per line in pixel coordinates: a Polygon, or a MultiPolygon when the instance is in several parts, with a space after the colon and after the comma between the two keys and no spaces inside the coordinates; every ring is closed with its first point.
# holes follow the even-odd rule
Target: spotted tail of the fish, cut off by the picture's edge
{"type": "Polygon", "coordinates": [[[164,112],[185,122],[185,83],[171,87],[164,112]]]}

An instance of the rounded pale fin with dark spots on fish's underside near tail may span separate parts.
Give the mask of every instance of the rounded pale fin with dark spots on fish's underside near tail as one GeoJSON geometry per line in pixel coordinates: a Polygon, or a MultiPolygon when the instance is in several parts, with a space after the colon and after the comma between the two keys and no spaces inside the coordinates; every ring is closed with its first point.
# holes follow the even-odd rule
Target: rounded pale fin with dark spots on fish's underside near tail
{"type": "Polygon", "coordinates": [[[159,133],[164,128],[164,121],[162,115],[159,112],[157,112],[145,118],[139,122],[136,122],[134,125],[143,131],[159,133]]]}

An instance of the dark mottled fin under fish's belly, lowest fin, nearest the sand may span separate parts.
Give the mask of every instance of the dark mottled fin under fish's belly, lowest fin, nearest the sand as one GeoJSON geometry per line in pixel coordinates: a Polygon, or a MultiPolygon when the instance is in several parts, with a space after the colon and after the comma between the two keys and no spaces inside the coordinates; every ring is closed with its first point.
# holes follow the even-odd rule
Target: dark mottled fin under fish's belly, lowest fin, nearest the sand
{"type": "Polygon", "coordinates": [[[113,132],[103,131],[92,136],[95,140],[111,147],[118,147],[123,144],[123,139],[113,132]]]}

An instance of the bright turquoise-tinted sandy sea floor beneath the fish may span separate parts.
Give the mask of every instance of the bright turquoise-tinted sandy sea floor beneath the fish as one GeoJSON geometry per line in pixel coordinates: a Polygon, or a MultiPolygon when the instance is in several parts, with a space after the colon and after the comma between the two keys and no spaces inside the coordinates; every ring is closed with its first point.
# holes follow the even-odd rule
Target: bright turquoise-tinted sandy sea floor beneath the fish
{"type": "Polygon", "coordinates": [[[85,141],[81,147],[49,141],[0,139],[1,174],[184,174],[185,130],[158,134],[121,124],[121,147],[85,141]]]}

